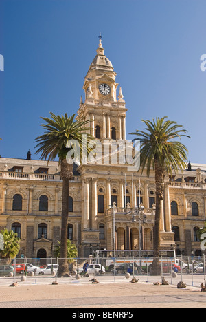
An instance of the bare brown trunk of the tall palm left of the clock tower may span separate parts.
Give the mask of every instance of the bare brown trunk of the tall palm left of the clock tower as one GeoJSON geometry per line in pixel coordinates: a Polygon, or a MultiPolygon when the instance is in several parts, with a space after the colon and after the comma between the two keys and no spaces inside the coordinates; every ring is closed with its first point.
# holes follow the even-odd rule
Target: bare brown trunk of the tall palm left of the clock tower
{"type": "Polygon", "coordinates": [[[62,184],[62,226],[60,237],[60,259],[58,261],[58,277],[69,275],[67,261],[67,225],[69,212],[69,181],[73,176],[73,164],[68,164],[66,159],[61,160],[62,184]]]}

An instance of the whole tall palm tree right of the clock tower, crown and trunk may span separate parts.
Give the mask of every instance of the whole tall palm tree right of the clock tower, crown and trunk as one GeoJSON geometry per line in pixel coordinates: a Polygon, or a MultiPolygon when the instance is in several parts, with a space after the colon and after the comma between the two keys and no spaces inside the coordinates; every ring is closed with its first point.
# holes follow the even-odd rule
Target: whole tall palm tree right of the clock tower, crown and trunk
{"type": "Polygon", "coordinates": [[[152,272],[158,274],[159,255],[160,255],[160,220],[161,206],[163,200],[165,174],[172,174],[172,170],[183,170],[187,164],[187,148],[184,144],[173,139],[181,139],[186,136],[187,131],[182,125],[178,125],[174,121],[156,118],[156,120],[143,120],[146,124],[144,131],[137,130],[130,133],[137,136],[137,140],[141,140],[140,148],[140,165],[142,172],[146,169],[146,173],[150,175],[150,169],[155,170],[156,184],[156,213],[155,213],[155,229],[154,229],[154,261],[152,264],[152,272]]]}

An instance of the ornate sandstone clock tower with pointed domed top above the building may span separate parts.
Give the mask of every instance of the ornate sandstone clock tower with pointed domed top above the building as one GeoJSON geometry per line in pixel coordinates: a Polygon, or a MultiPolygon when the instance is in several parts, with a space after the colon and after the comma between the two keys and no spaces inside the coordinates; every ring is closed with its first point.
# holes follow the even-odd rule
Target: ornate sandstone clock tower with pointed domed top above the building
{"type": "Polygon", "coordinates": [[[126,107],[122,88],[117,87],[115,70],[104,55],[102,36],[87,75],[84,78],[84,93],[78,109],[78,117],[91,120],[89,133],[98,140],[126,140],[126,107]]]}

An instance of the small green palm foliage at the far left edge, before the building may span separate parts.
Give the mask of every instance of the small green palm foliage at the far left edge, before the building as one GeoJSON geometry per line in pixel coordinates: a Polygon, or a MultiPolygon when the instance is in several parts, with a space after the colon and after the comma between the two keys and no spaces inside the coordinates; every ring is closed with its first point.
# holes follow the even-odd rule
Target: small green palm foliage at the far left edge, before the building
{"type": "Polygon", "coordinates": [[[1,230],[4,239],[4,249],[0,250],[0,257],[5,259],[12,259],[16,257],[20,249],[20,239],[12,230],[8,231],[6,228],[1,230]]]}

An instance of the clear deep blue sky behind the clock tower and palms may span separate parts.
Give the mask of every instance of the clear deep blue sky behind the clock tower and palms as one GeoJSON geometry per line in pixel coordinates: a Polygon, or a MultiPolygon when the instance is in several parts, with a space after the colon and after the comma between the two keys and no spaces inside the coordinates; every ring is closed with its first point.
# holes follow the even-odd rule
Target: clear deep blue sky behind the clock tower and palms
{"type": "Polygon", "coordinates": [[[191,136],[190,162],[206,163],[205,12],[205,0],[1,0],[1,156],[30,149],[38,159],[40,116],[77,112],[102,32],[128,107],[126,133],[168,116],[191,136]]]}

